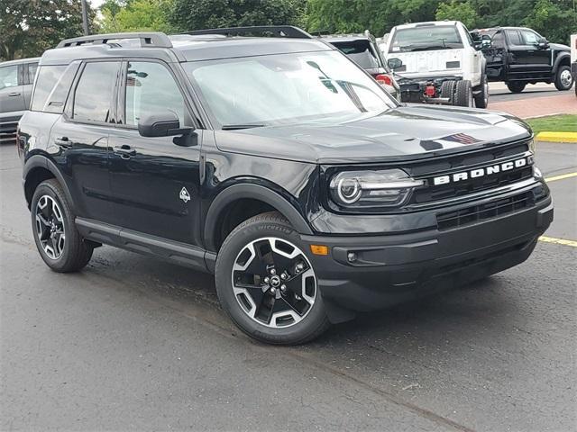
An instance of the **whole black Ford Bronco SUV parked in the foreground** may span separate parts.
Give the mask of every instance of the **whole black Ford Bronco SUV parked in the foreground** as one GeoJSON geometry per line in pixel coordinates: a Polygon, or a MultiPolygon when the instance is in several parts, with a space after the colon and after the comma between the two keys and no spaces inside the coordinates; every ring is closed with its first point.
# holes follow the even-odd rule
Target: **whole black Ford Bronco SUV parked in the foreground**
{"type": "Polygon", "coordinates": [[[525,123],[401,105],[291,27],[64,40],[17,139],[50,268],[107,244],[214,273],[274,344],[516,266],[553,219],[525,123]]]}

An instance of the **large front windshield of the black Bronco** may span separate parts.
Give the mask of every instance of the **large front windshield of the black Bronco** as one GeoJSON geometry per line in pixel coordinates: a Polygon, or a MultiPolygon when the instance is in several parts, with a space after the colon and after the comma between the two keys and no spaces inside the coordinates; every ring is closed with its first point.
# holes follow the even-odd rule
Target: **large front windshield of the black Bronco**
{"type": "Polygon", "coordinates": [[[396,106],[338,51],[190,62],[185,70],[223,128],[353,121],[396,106]]]}

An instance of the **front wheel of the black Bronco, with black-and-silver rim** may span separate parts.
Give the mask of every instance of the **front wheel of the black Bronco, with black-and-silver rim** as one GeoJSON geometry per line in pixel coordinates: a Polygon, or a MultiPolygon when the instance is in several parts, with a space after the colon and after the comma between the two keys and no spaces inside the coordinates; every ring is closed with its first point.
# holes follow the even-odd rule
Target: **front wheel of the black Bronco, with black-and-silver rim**
{"type": "Polygon", "coordinates": [[[215,267],[218,300],[251,338],[302,344],[328,329],[306,245],[278,212],[245,220],[224,240],[215,267]]]}

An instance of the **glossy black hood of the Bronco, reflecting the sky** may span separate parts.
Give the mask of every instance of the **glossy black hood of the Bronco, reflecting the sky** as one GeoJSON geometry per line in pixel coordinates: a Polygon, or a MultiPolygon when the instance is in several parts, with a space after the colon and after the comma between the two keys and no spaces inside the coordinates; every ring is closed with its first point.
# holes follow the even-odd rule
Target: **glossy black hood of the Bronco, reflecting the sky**
{"type": "Polygon", "coordinates": [[[530,137],[527,124],[503,112],[423,104],[342,124],[215,131],[222,151],[316,164],[411,160],[530,137]]]}

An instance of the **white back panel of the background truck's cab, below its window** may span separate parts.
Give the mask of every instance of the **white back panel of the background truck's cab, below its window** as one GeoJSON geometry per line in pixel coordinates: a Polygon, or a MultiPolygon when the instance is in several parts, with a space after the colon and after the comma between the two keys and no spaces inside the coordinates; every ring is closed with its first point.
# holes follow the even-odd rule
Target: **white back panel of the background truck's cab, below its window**
{"type": "Polygon", "coordinates": [[[464,49],[433,49],[428,51],[390,52],[388,58],[403,62],[403,76],[451,75],[463,68],[464,49]]]}

